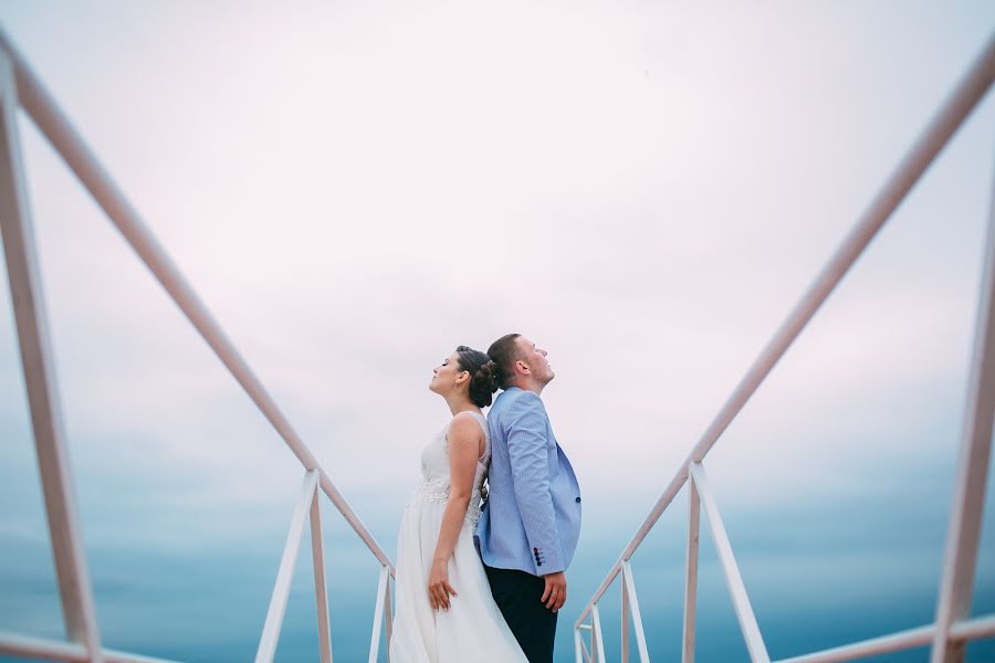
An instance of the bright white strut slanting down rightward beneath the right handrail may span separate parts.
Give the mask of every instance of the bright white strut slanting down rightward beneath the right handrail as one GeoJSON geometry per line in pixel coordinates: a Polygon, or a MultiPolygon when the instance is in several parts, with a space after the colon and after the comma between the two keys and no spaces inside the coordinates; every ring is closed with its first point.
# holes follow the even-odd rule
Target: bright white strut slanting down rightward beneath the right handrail
{"type": "Polygon", "coordinates": [[[743,583],[743,576],[740,573],[736,558],[733,556],[732,545],[729,541],[729,535],[725,533],[725,525],[722,524],[719,504],[715,502],[701,463],[691,463],[691,477],[694,486],[698,488],[702,508],[704,508],[708,516],[709,529],[712,532],[712,540],[715,544],[715,552],[719,555],[719,561],[725,575],[725,585],[729,587],[733,608],[736,611],[736,618],[740,620],[743,638],[746,640],[750,659],[754,663],[769,663],[771,656],[767,654],[767,645],[764,644],[764,638],[761,635],[760,624],[756,623],[756,615],[753,613],[753,606],[750,604],[746,586],[743,583]]]}

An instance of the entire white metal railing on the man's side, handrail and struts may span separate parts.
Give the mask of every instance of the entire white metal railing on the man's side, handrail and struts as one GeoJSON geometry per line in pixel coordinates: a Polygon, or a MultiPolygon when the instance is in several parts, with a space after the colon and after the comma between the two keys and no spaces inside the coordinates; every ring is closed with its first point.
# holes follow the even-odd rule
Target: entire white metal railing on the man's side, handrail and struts
{"type": "MultiPolygon", "coordinates": [[[[620,573],[622,575],[621,660],[628,661],[629,659],[628,624],[629,618],[631,618],[636,627],[639,660],[641,663],[649,661],[641,618],[635,601],[636,583],[632,579],[629,560],[685,483],[689,484],[690,506],[682,661],[683,663],[694,661],[700,508],[705,512],[712,539],[719,554],[720,566],[725,575],[726,586],[750,657],[755,662],[771,660],[753,614],[746,587],[740,576],[729,536],[722,524],[719,506],[709,487],[703,461],[723,431],[811,320],[905,194],[919,181],[971,112],[981,103],[993,80],[995,80],[995,35],[988,39],[983,52],[968,67],[967,73],[899,162],[894,172],[832,254],[828,264],[818,273],[815,282],[746,371],[582,611],[574,624],[574,646],[578,663],[582,661],[605,663],[606,661],[598,601],[620,573]],[[590,648],[587,646],[585,638],[589,639],[590,648]]],[[[993,196],[995,196],[995,187],[993,187],[993,196]]],[[[934,623],[925,627],[795,656],[781,663],[848,661],[931,643],[931,663],[954,663],[963,660],[967,641],[995,635],[995,614],[968,619],[984,509],[993,415],[995,415],[995,319],[993,319],[995,317],[995,283],[993,283],[995,282],[995,197],[993,197],[989,209],[987,241],[984,251],[983,282],[977,309],[964,431],[956,465],[950,530],[936,601],[936,619],[934,623]]]]}

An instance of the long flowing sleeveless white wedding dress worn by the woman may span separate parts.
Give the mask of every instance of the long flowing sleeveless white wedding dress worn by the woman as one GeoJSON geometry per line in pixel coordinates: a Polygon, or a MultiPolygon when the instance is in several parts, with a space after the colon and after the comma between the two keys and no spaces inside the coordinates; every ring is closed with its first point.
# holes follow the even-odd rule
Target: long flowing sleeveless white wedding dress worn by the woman
{"type": "Polygon", "coordinates": [[[423,481],[412,493],[397,537],[397,609],[390,639],[390,663],[527,663],[525,654],[491,597],[491,586],[473,544],[480,519],[480,492],[491,462],[488,422],[474,413],[484,431],[483,457],[476,461],[470,508],[449,560],[449,611],[434,611],[428,577],[449,499],[447,423],[421,452],[423,481]]]}

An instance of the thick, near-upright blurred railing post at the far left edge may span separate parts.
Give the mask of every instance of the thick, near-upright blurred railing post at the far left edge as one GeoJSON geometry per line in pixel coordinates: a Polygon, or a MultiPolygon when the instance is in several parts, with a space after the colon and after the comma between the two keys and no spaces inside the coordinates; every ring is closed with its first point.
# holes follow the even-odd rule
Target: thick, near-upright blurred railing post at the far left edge
{"type": "MultiPolygon", "coordinates": [[[[65,446],[55,361],[18,133],[14,65],[0,51],[0,234],[65,632],[101,661],[93,588],[65,446]]],[[[2,651],[2,650],[0,650],[2,651]]]]}

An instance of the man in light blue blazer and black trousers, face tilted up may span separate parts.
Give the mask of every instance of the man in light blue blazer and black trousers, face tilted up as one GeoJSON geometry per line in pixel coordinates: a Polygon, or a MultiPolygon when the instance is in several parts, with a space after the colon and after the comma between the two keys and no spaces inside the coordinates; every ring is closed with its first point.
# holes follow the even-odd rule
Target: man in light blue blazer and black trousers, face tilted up
{"type": "Polygon", "coordinates": [[[530,663],[552,663],[580,488],[540,399],[554,377],[546,350],[509,334],[488,355],[504,391],[488,413],[491,471],[476,541],[494,601],[530,663]]]}

